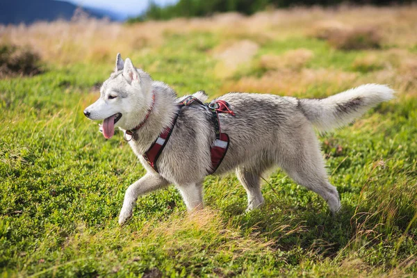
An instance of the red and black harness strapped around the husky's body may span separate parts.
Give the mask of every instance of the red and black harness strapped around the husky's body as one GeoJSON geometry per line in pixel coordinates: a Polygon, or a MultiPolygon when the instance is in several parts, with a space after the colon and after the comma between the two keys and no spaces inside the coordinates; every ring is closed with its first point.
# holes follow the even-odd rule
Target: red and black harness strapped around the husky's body
{"type": "MultiPolygon", "coordinates": [[[[227,149],[229,148],[229,136],[226,133],[222,133],[220,130],[220,120],[219,120],[219,113],[229,113],[231,115],[235,115],[233,111],[230,110],[229,104],[224,100],[216,100],[209,104],[204,104],[202,101],[199,101],[196,97],[190,96],[184,99],[179,103],[179,111],[184,106],[190,106],[191,104],[199,104],[205,106],[211,111],[211,119],[213,121],[213,125],[215,127],[215,142],[213,142],[213,146],[210,149],[211,153],[211,170],[210,174],[213,174],[215,170],[218,169],[220,163],[224,156],[227,153],[227,149]]],[[[151,147],[145,152],[143,157],[149,163],[149,165],[154,168],[156,172],[158,172],[158,167],[156,166],[156,162],[158,161],[159,156],[161,155],[163,148],[167,144],[168,140],[170,139],[172,130],[177,122],[179,116],[179,112],[177,113],[172,126],[168,127],[161,133],[158,138],[156,138],[155,142],[151,145],[151,147]]]]}

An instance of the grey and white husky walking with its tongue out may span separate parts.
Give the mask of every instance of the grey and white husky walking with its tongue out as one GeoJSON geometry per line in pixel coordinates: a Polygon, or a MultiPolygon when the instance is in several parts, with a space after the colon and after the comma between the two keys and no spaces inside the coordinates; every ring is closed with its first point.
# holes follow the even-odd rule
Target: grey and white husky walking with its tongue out
{"type": "MultiPolygon", "coordinates": [[[[247,211],[264,202],[260,177],[273,166],[326,200],[330,211],[341,208],[339,195],[329,183],[318,131],[349,124],[369,108],[393,98],[386,85],[367,84],[325,99],[297,99],[277,95],[229,92],[219,97],[236,114],[219,114],[220,128],[230,137],[226,156],[215,174],[234,170],[247,193],[247,211]]],[[[206,101],[199,91],[194,95],[206,101]]],[[[100,98],[85,108],[91,120],[104,120],[104,137],[111,138],[115,127],[133,132],[129,145],[147,174],[131,184],[124,195],[119,224],[132,216],[138,196],[170,184],[177,187],[188,210],[202,207],[202,183],[211,166],[210,149],[215,142],[211,111],[202,105],[179,108],[177,95],[165,83],[122,60],[117,54],[115,72],[100,90],[100,98]],[[178,113],[178,117],[177,117],[178,113]],[[172,126],[172,134],[158,158],[158,172],[143,157],[159,134],[172,126]]]]}

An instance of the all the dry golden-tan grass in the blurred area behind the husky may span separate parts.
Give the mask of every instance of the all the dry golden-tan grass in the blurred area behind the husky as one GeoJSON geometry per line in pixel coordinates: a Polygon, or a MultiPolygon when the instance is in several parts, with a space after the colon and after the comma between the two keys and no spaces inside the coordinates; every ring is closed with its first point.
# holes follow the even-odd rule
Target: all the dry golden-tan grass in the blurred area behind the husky
{"type": "MultiPolygon", "coordinates": [[[[38,22],[31,26],[0,26],[0,43],[30,45],[42,59],[58,65],[80,61],[111,63],[117,52],[131,56],[158,49],[167,35],[204,32],[215,35],[220,41],[220,45],[208,51],[208,55],[219,60],[213,67],[213,76],[224,81],[221,91],[216,92],[218,95],[229,90],[293,95],[320,83],[343,86],[362,81],[390,83],[408,95],[416,95],[417,58],[409,50],[417,45],[416,14],[417,6],[411,5],[293,8],[268,10],[250,17],[227,13],[133,25],[80,17],[70,23],[58,21],[49,24],[38,22]],[[281,55],[264,54],[253,63],[259,47],[272,40],[284,41],[311,35],[328,39],[330,34],[352,34],[358,30],[372,30],[371,33],[377,36],[377,43],[382,46],[382,50],[357,58],[352,63],[352,69],[365,72],[366,78],[341,70],[306,69],[306,63],[316,57],[311,50],[304,48],[291,49],[281,55]],[[254,66],[265,70],[264,76],[229,80],[242,67],[254,66]]],[[[366,32],[363,34],[366,35],[366,32]]],[[[183,43],[187,44],[186,41],[183,43]]],[[[147,70],[152,71],[152,65],[147,70]]]]}

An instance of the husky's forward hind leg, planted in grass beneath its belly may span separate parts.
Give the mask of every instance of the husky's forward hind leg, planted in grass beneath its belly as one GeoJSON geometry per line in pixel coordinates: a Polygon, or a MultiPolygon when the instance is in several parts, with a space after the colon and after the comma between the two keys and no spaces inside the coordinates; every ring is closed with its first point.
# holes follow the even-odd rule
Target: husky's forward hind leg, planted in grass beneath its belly
{"type": "Polygon", "coordinates": [[[262,206],[264,200],[261,193],[261,185],[258,171],[247,170],[245,167],[236,169],[236,176],[246,190],[247,208],[246,211],[252,211],[254,208],[262,206]]]}

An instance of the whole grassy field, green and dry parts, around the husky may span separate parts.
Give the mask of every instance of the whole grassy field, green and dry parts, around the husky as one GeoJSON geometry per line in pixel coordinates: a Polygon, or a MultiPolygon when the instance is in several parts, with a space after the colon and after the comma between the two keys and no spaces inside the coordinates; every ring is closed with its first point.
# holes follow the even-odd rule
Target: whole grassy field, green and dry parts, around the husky
{"type": "Polygon", "coordinates": [[[416,6],[342,7],[0,27],[1,43],[30,45],[43,69],[0,80],[1,277],[416,276],[416,14],[416,6]],[[363,32],[377,49],[345,49],[363,43],[363,32]],[[244,213],[234,175],[207,177],[203,211],[186,213],[170,187],[140,197],[119,227],[124,190],[145,170],[121,133],[105,140],[82,113],[117,52],[179,95],[326,97],[385,83],[397,98],[318,134],[341,194],[336,218],[275,170],[259,211],[244,213]]]}

